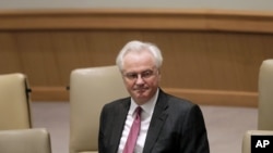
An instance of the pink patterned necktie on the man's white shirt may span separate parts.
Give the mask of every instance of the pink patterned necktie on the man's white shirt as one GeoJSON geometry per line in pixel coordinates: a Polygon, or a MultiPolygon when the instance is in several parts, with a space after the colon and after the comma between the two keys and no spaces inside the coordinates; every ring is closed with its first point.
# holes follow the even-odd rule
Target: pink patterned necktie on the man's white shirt
{"type": "Polygon", "coordinates": [[[123,153],[133,153],[133,149],[134,149],[134,145],[136,143],[136,139],[140,132],[141,111],[142,109],[140,106],[135,109],[135,118],[133,120],[129,136],[127,138],[123,153]]]}

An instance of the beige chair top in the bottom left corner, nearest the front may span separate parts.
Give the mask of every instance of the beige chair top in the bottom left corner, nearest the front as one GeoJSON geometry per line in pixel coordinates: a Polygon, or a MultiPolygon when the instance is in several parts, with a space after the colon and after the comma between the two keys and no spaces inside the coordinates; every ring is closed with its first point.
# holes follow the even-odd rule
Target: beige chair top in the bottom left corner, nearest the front
{"type": "Polygon", "coordinates": [[[51,153],[46,129],[0,130],[0,153],[51,153]]]}

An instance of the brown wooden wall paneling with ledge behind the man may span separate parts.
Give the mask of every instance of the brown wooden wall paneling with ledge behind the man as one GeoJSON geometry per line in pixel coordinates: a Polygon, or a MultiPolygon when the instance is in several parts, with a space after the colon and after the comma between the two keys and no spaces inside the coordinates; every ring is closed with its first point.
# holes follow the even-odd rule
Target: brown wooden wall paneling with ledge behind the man
{"type": "MultiPolygon", "coordinates": [[[[94,12],[90,14],[98,15],[93,20],[100,21],[110,15],[105,12],[106,14],[100,12],[103,15],[94,12]]],[[[132,13],[132,16],[129,13],[129,16],[134,17],[136,14],[136,17],[141,16],[146,21],[151,16],[152,18],[156,16],[152,20],[156,24],[166,22],[159,20],[159,16],[164,18],[166,15],[171,15],[175,21],[179,16],[185,20],[185,14],[181,12],[177,14],[162,11],[152,15],[151,12],[146,13],[147,16],[141,11],[132,13]]],[[[114,13],[111,21],[115,21],[117,14],[119,17],[122,16],[117,21],[128,20],[127,27],[118,28],[117,23],[108,23],[112,25],[106,25],[104,28],[98,28],[97,24],[96,26],[90,24],[90,27],[86,27],[72,23],[69,26],[56,21],[52,12],[0,13],[0,23],[9,21],[9,24],[0,25],[0,74],[13,72],[26,74],[33,88],[33,101],[68,101],[69,92],[66,88],[69,86],[72,69],[115,64],[115,58],[122,46],[129,40],[139,39],[154,42],[162,49],[164,54],[162,87],[166,91],[200,104],[257,106],[259,67],[263,60],[273,58],[273,30],[272,27],[268,27],[272,24],[271,15],[245,14],[244,16],[238,13],[236,16],[222,12],[219,17],[219,12],[215,14],[188,12],[186,13],[188,21],[193,20],[195,24],[205,22],[210,23],[210,26],[201,24],[199,28],[191,28],[193,23],[186,23],[182,28],[179,24],[167,26],[171,24],[170,18],[169,24],[164,23],[167,27],[161,29],[153,28],[154,24],[151,23],[146,28],[142,24],[138,28],[138,25],[130,24],[132,18],[124,17],[126,12],[114,13]],[[15,25],[22,17],[29,16],[29,23],[26,22],[23,28],[15,25]],[[47,18],[50,23],[43,26],[38,17],[47,18]],[[245,21],[242,25],[260,17],[262,22],[257,25],[265,25],[266,30],[261,30],[260,26],[254,28],[256,25],[251,24],[248,30],[253,31],[246,31],[240,25],[237,25],[236,29],[223,25],[230,18],[238,17],[245,21]],[[211,18],[214,18],[213,22],[210,22],[211,18]]],[[[64,21],[71,16],[69,21],[76,22],[76,18],[86,14],[73,11],[70,14],[68,12],[62,14],[60,11],[59,16],[63,15],[64,21]]]]}

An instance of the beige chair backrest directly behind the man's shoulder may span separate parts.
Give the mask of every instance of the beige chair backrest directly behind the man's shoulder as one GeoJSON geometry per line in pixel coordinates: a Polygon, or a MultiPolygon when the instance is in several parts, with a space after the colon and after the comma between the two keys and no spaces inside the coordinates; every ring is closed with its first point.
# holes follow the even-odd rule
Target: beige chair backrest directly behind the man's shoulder
{"type": "Polygon", "coordinates": [[[70,75],[70,153],[98,151],[104,104],[128,97],[117,66],[78,68],[70,75]]]}

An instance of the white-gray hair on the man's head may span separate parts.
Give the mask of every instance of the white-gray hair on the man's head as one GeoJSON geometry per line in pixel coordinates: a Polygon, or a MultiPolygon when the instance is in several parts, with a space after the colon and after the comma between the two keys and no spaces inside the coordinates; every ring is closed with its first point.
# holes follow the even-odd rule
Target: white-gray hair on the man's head
{"type": "Polygon", "coordinates": [[[118,65],[119,69],[123,69],[123,58],[127,53],[135,51],[140,52],[146,50],[151,52],[154,55],[154,61],[155,61],[155,66],[159,68],[163,63],[163,56],[161,50],[153,43],[151,42],[142,42],[139,40],[133,40],[129,41],[119,52],[117,59],[116,59],[116,64],[118,65]]]}

